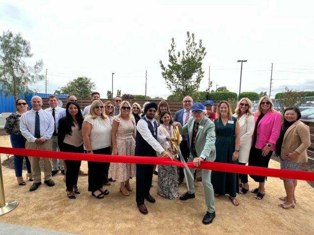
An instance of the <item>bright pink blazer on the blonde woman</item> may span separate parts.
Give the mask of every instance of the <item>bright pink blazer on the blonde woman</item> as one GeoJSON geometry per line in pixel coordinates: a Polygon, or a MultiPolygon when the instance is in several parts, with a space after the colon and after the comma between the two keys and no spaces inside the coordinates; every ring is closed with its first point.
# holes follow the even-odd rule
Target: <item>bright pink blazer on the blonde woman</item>
{"type": "MultiPolygon", "coordinates": [[[[254,114],[255,123],[259,117],[257,112],[254,114]]],[[[257,127],[257,138],[255,147],[262,149],[266,146],[268,142],[272,143],[270,151],[275,150],[276,141],[279,138],[281,130],[281,115],[277,111],[272,113],[270,110],[265,114],[265,116],[260,120],[257,127]]],[[[254,140],[254,134],[252,136],[254,140]]],[[[253,142],[253,141],[252,141],[253,142]]]]}

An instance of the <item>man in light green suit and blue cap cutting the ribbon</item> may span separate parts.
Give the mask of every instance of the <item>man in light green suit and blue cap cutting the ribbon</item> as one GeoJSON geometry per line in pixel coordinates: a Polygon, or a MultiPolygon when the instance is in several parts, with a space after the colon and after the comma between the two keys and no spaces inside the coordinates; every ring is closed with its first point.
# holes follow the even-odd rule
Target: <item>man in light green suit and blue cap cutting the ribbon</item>
{"type": "MultiPolygon", "coordinates": [[[[174,126],[179,127],[180,134],[188,133],[190,144],[190,156],[188,162],[193,162],[195,166],[199,166],[203,161],[213,162],[216,158],[215,151],[215,125],[204,115],[204,106],[201,103],[192,105],[192,117],[188,122],[181,126],[180,122],[174,122],[174,126]]],[[[191,168],[193,174],[195,168],[191,168]]],[[[205,202],[207,213],[203,218],[204,224],[210,224],[215,217],[214,190],[210,183],[211,170],[202,169],[202,182],[204,186],[205,202]]],[[[185,192],[180,200],[194,198],[195,187],[194,179],[189,174],[186,175],[189,190],[185,192]]]]}

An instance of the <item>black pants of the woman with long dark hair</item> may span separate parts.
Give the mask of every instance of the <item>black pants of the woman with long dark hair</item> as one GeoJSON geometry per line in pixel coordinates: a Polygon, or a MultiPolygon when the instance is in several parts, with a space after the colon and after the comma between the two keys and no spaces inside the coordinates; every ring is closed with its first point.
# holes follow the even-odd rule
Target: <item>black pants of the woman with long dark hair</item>
{"type": "MultiPolygon", "coordinates": [[[[75,147],[73,145],[63,143],[62,152],[71,152],[71,153],[83,153],[83,144],[79,147],[75,147]]],[[[67,164],[67,171],[65,177],[65,185],[68,191],[73,191],[73,186],[78,185],[78,171],[80,167],[81,161],[76,160],[65,160],[67,164]]]]}

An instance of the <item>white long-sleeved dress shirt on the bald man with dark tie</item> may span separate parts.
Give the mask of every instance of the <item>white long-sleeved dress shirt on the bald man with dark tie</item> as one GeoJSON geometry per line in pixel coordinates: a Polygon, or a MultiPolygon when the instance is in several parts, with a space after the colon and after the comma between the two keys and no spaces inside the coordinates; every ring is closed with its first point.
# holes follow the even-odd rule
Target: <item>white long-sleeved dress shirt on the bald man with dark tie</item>
{"type": "MultiPolygon", "coordinates": [[[[38,111],[38,115],[40,120],[40,138],[49,140],[51,139],[52,133],[54,131],[53,117],[50,113],[42,109],[38,111]]],[[[35,142],[37,139],[34,137],[35,117],[36,111],[31,109],[30,111],[24,113],[20,120],[21,133],[28,142],[35,142]]]]}

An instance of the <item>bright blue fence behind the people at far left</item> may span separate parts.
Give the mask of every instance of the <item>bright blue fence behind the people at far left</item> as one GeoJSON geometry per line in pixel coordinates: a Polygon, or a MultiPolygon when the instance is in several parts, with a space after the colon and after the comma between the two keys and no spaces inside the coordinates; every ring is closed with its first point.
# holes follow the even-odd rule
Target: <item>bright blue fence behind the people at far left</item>
{"type": "MultiPolygon", "coordinates": [[[[6,95],[6,91],[0,91],[0,114],[2,113],[13,113],[15,112],[15,100],[13,94],[6,95]]],[[[18,95],[19,98],[23,98],[28,102],[29,109],[31,109],[30,100],[31,97],[38,95],[42,98],[48,98],[51,94],[45,93],[29,93],[29,94],[20,94],[18,95]]],[[[65,94],[54,94],[58,98],[67,98],[68,95],[65,94]]]]}

